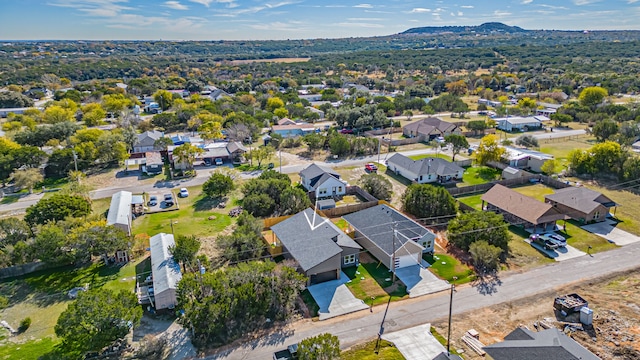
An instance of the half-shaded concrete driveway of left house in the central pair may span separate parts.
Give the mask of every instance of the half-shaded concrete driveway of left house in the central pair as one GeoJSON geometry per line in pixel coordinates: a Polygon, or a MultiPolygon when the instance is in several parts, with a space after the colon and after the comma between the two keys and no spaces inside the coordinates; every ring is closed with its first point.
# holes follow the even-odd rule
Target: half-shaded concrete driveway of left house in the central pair
{"type": "Polygon", "coordinates": [[[307,289],[313,296],[320,310],[320,320],[360,311],[369,308],[364,301],[357,299],[345,285],[349,277],[340,272],[340,279],[326,281],[309,286],[307,289]]]}

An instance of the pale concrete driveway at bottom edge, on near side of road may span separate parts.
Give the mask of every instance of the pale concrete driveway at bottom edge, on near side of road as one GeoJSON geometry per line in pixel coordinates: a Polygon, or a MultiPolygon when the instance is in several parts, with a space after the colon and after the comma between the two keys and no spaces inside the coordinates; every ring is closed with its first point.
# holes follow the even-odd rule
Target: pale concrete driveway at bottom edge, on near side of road
{"type": "Polygon", "coordinates": [[[431,335],[431,324],[382,335],[384,340],[392,342],[407,360],[434,359],[447,349],[431,335]]]}

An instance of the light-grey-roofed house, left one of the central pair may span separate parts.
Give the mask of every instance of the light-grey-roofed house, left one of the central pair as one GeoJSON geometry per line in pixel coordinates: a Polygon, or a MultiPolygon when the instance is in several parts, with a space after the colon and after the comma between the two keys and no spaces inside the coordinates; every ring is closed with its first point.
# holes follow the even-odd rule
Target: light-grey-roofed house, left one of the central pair
{"type": "Polygon", "coordinates": [[[298,262],[308,284],[340,278],[342,268],[358,266],[362,247],[331,220],[308,208],[273,226],[285,258],[298,262]]]}

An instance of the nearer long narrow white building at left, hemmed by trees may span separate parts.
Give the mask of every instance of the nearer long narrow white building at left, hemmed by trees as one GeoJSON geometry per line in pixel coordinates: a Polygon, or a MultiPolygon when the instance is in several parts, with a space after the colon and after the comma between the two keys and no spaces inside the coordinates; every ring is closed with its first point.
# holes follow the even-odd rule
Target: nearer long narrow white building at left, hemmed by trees
{"type": "Polygon", "coordinates": [[[156,310],[173,309],[178,303],[176,288],[182,273],[169,252],[175,246],[173,234],[159,233],[149,239],[153,288],[149,289],[151,304],[156,310]]]}

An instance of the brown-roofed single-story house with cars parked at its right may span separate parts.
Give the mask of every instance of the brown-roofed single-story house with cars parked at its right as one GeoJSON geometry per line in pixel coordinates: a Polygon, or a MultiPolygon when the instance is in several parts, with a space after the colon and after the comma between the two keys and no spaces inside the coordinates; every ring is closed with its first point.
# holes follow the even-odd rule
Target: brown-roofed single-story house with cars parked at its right
{"type": "Polygon", "coordinates": [[[533,233],[553,231],[556,221],[566,219],[565,215],[551,204],[520,194],[500,184],[494,185],[481,197],[482,209],[503,214],[513,225],[522,225],[533,233]]]}

